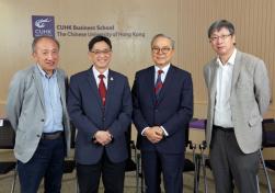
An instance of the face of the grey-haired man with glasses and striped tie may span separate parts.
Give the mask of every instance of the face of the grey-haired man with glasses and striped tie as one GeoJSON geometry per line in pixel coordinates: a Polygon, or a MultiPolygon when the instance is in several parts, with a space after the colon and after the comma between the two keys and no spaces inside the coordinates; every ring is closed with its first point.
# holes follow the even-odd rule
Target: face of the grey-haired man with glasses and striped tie
{"type": "Polygon", "coordinates": [[[152,60],[158,67],[161,68],[171,63],[174,49],[172,49],[172,43],[169,38],[156,38],[151,49],[152,60]]]}

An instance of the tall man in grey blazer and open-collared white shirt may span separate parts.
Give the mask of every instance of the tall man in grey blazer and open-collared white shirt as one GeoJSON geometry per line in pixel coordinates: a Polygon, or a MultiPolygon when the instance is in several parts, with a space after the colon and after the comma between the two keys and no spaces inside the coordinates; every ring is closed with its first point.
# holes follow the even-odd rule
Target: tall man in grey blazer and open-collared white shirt
{"type": "Polygon", "coordinates": [[[206,137],[216,192],[256,193],[262,120],[270,104],[264,63],[236,48],[232,23],[214,22],[208,38],[217,57],[204,68],[208,89],[206,137]]]}

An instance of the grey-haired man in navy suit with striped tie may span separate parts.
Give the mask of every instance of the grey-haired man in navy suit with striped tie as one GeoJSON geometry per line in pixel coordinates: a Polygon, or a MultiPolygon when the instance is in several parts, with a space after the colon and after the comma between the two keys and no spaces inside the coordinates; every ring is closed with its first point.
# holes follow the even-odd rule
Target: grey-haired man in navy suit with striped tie
{"type": "Polygon", "coordinates": [[[133,86],[134,124],[145,172],[146,192],[183,192],[185,129],[193,116],[191,73],[171,64],[174,41],[163,34],[151,41],[154,66],[136,73],[133,86]]]}

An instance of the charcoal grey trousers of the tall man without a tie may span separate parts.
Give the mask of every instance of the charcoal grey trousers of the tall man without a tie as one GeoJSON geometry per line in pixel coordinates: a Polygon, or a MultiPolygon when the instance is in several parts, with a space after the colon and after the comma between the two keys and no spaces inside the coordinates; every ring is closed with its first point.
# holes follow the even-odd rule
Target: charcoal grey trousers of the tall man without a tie
{"type": "Polygon", "coordinates": [[[233,193],[233,184],[240,193],[257,192],[259,154],[243,154],[233,130],[214,128],[210,163],[217,193],[233,193]]]}

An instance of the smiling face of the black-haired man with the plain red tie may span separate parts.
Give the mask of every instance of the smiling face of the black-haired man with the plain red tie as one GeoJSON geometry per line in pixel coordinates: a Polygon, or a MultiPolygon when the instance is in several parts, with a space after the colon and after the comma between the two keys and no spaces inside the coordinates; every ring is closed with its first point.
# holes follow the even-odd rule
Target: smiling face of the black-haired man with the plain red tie
{"type": "Polygon", "coordinates": [[[104,41],[98,42],[93,45],[92,50],[89,52],[89,58],[99,71],[104,71],[108,68],[112,50],[104,41]]]}

